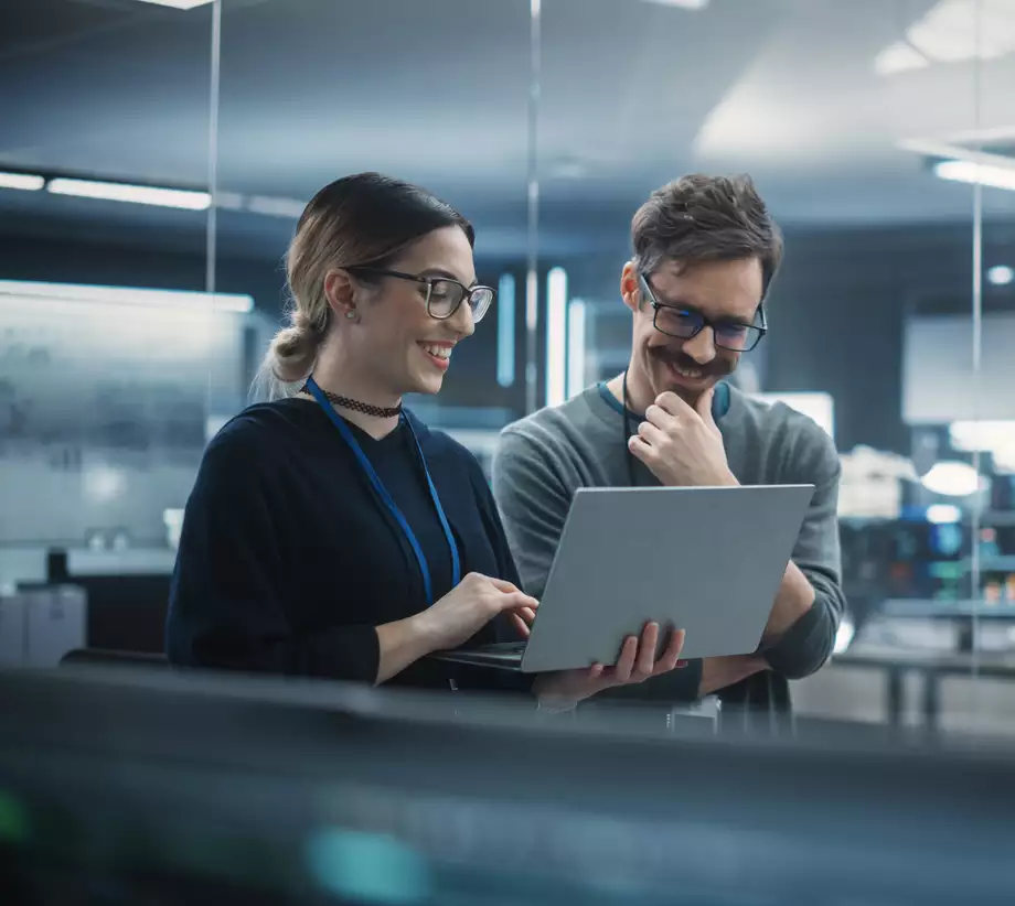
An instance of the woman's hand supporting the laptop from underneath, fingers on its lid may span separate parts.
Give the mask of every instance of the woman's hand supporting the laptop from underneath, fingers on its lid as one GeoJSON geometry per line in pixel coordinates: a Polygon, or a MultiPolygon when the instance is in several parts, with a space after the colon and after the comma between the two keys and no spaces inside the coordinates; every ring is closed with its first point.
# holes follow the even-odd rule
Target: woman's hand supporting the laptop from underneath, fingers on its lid
{"type": "Polygon", "coordinates": [[[649,623],[641,634],[641,640],[628,636],[620,648],[620,657],[613,667],[594,664],[587,670],[563,670],[557,673],[542,673],[532,686],[541,703],[551,708],[573,708],[583,699],[590,698],[613,686],[644,682],[651,677],[669,673],[686,666],[680,660],[684,647],[684,630],[674,629],[670,644],[662,657],[655,659],[659,644],[659,624],[649,623]]]}

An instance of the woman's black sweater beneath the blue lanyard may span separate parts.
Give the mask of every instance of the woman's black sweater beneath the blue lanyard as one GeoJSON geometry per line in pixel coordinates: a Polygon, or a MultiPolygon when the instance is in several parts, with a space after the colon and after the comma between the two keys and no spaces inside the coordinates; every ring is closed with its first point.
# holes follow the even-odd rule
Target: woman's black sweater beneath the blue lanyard
{"type": "MultiPolygon", "coordinates": [[[[493,497],[472,454],[410,413],[458,543],[461,572],[519,583],[493,497]]],[[[423,549],[434,600],[451,556],[412,434],[350,428],[423,549]]],[[[373,682],[374,627],[426,607],[405,535],[327,413],[311,400],[253,406],[209,445],[186,504],[170,593],[173,664],[373,682]]],[[[511,637],[505,623],[473,639],[511,637]]],[[[512,688],[503,671],[424,659],[391,682],[512,688]]]]}

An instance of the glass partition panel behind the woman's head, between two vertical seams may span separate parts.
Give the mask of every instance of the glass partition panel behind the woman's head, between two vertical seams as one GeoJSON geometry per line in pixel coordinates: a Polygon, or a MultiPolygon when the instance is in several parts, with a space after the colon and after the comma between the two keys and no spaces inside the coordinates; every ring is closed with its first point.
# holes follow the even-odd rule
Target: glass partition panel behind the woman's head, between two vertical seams
{"type": "Polygon", "coordinates": [[[340,176],[418,183],[476,226],[498,306],[439,398],[410,401],[485,456],[523,407],[526,3],[222,3],[217,280],[255,300],[254,360],[286,303],[280,262],[306,203],[340,176]]]}

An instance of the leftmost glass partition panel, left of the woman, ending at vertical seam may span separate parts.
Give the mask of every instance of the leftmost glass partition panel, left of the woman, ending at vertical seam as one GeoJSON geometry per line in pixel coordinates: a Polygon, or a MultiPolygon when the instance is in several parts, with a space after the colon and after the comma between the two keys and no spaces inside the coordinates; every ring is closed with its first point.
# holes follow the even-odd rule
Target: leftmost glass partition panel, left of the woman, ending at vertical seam
{"type": "Polygon", "coordinates": [[[207,6],[0,11],[0,636],[31,624],[14,661],[161,647],[206,435],[211,22],[207,6]],[[149,584],[121,612],[95,583],[128,574],[149,584]],[[14,595],[67,581],[81,594],[49,616],[14,595]]]}

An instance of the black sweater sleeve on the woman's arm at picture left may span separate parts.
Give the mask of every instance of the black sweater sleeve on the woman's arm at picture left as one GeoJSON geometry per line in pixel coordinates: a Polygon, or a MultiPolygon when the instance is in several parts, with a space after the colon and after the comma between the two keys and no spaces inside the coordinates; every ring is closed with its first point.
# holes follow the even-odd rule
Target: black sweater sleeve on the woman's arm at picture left
{"type": "Polygon", "coordinates": [[[373,626],[293,630],[292,582],[278,544],[280,496],[258,451],[239,440],[226,433],[213,441],[186,504],[167,618],[170,662],[374,682],[373,626]]]}

